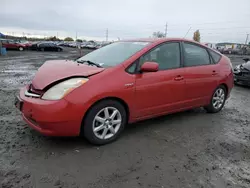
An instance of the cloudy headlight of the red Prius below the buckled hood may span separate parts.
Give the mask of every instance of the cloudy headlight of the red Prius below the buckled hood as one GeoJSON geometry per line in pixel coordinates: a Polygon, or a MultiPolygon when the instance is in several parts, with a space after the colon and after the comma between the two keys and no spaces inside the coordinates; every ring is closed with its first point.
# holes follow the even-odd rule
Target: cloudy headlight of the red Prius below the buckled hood
{"type": "Polygon", "coordinates": [[[87,78],[71,78],[69,80],[65,80],[51,87],[48,91],[46,91],[42,99],[45,100],[59,100],[62,99],[69,92],[74,90],[75,88],[81,86],[82,84],[88,81],[87,78]]]}

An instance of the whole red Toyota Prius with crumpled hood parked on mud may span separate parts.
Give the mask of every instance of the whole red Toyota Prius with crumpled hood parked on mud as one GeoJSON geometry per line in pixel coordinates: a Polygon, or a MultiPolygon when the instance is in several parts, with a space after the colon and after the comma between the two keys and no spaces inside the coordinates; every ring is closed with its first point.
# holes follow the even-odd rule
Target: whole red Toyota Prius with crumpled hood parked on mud
{"type": "Polygon", "coordinates": [[[196,107],[219,112],[233,82],[230,60],[200,43],[119,41],[75,61],[45,62],[15,105],[43,135],[101,145],[127,123],[196,107]]]}

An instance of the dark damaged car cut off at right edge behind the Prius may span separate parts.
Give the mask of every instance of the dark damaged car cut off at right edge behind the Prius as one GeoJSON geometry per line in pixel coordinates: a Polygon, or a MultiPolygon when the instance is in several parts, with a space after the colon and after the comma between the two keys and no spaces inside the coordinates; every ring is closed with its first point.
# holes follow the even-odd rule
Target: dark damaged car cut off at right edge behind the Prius
{"type": "Polygon", "coordinates": [[[234,82],[250,86],[250,59],[244,58],[245,63],[234,68],[234,82]]]}

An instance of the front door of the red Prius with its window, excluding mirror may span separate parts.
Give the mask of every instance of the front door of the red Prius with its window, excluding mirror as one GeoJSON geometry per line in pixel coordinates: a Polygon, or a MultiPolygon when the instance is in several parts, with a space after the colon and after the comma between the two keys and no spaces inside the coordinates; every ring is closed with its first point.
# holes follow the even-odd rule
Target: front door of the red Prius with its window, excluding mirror
{"type": "Polygon", "coordinates": [[[185,101],[180,44],[168,42],[157,46],[140,58],[139,67],[148,61],[158,63],[159,70],[136,75],[135,106],[139,119],[176,111],[185,101]]]}

